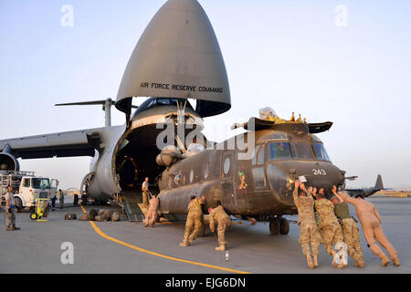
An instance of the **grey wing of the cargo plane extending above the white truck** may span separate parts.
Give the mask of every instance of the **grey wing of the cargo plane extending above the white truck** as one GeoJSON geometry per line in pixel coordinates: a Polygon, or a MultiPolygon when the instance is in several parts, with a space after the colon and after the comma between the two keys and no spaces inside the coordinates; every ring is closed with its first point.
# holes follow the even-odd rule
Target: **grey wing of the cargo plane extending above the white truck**
{"type": "Polygon", "coordinates": [[[94,156],[105,130],[107,128],[73,130],[1,140],[0,151],[22,159],[94,156]]]}

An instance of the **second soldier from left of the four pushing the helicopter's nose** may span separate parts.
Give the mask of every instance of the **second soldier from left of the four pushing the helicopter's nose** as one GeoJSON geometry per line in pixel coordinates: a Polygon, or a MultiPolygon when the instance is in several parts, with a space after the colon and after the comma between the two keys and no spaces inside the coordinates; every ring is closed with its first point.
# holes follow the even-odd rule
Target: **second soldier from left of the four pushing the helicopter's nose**
{"type": "MultiPolygon", "coordinates": [[[[321,188],[319,193],[317,193],[317,189],[314,188],[310,193],[316,197],[315,209],[321,219],[321,229],[324,233],[324,248],[327,254],[332,255],[332,266],[335,267],[337,263],[335,263],[334,258],[337,252],[332,243],[343,242],[341,224],[334,214],[334,204],[324,197],[324,189],[321,188]]],[[[343,266],[339,265],[338,267],[341,268],[343,266]]]]}

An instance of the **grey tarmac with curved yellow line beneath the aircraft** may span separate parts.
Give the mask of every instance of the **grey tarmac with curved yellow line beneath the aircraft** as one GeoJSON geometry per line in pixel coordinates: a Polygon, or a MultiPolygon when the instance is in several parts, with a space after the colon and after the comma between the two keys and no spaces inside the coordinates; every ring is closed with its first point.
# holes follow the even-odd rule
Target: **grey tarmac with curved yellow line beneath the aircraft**
{"type": "MultiPolygon", "coordinates": [[[[154,228],[142,223],[66,221],[64,214],[82,214],[66,200],[64,209],[50,212],[48,222],[36,222],[28,212],[16,214],[19,231],[5,231],[5,212],[0,212],[0,273],[126,273],[126,274],[219,274],[219,273],[411,273],[411,198],[369,198],[383,218],[385,235],[397,249],[401,266],[380,266],[380,260],[366,247],[361,232],[366,267],[332,268],[331,256],[321,245],[320,266],[307,267],[298,242],[300,227],[290,224],[289,235],[269,235],[269,224],[252,226],[248,221],[231,227],[226,254],[216,252],[216,235],[197,238],[193,246],[178,244],[184,222],[164,222],[154,228]],[[63,243],[73,246],[73,264],[63,264],[63,243]]],[[[99,206],[86,206],[100,209],[99,206]]],[[[102,208],[113,208],[105,206],[102,208]]],[[[353,206],[351,212],[355,215],[353,206]]],[[[297,220],[297,216],[286,216],[297,220]]],[[[66,262],[67,263],[67,262],[66,262]]]]}

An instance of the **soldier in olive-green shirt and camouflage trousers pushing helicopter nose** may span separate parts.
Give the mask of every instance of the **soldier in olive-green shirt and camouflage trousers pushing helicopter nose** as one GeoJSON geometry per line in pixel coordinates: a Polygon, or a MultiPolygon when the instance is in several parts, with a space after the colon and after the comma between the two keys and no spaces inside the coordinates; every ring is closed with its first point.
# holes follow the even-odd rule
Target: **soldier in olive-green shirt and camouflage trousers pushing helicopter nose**
{"type": "Polygon", "coordinates": [[[354,262],[354,266],[365,267],[363,250],[361,249],[360,230],[353,217],[350,215],[348,204],[345,203],[337,193],[336,186],[332,186],[331,198],[334,204],[334,212],[337,218],[342,223],[342,234],[344,235],[344,243],[347,245],[347,253],[354,262]]]}

